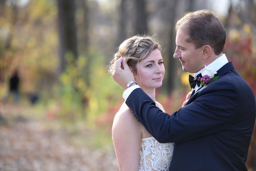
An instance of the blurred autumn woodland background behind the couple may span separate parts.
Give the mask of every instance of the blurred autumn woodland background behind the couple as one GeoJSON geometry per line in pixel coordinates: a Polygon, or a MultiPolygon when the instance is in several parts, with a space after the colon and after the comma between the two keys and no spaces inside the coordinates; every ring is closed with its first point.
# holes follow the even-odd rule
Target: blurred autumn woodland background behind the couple
{"type": "Polygon", "coordinates": [[[191,90],[174,26],[199,9],[222,21],[224,53],[256,95],[255,0],[0,0],[0,170],[118,170],[111,128],[123,90],[107,65],[127,37],[156,34],[166,68],[156,99],[173,113],[191,90]]]}

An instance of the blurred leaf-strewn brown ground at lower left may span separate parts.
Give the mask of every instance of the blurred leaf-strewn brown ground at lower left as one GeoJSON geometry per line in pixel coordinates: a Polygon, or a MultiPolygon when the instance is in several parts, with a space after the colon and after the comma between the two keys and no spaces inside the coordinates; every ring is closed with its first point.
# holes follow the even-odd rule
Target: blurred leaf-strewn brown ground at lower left
{"type": "Polygon", "coordinates": [[[74,146],[68,133],[49,131],[39,121],[19,117],[0,124],[0,137],[0,171],[118,170],[113,150],[74,146]]]}

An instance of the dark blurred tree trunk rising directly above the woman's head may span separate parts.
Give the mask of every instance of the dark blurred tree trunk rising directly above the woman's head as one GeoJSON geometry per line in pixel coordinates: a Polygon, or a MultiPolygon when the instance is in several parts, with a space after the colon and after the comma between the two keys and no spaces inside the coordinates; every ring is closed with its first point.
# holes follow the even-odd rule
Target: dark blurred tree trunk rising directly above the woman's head
{"type": "Polygon", "coordinates": [[[145,0],[134,0],[135,6],[135,32],[138,34],[148,33],[147,14],[145,0]]]}

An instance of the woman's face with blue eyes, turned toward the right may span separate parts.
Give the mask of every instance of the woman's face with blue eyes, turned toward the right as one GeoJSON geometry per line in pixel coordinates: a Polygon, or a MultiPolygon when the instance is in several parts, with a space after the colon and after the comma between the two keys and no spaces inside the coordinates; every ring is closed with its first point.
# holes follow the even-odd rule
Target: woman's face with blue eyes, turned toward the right
{"type": "Polygon", "coordinates": [[[161,52],[155,49],[147,58],[138,63],[135,81],[144,89],[160,87],[162,86],[164,73],[161,52]]]}

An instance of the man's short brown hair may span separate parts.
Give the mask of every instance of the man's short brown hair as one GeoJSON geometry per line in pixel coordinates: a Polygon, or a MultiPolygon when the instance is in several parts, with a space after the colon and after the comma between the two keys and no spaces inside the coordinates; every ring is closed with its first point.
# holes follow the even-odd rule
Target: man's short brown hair
{"type": "Polygon", "coordinates": [[[218,17],[210,10],[199,10],[184,15],[176,23],[176,31],[181,29],[189,36],[186,41],[193,43],[195,49],[209,45],[215,55],[219,55],[224,48],[226,31],[218,17]]]}

